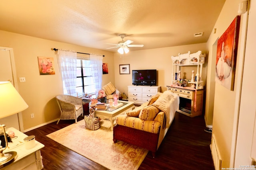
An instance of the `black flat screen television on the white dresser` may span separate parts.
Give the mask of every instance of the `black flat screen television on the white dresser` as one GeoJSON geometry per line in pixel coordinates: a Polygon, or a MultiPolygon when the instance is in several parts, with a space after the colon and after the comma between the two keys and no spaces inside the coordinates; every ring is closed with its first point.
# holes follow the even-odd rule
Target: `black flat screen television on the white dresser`
{"type": "Polygon", "coordinates": [[[132,84],[156,86],[156,70],[132,70],[132,84]]]}

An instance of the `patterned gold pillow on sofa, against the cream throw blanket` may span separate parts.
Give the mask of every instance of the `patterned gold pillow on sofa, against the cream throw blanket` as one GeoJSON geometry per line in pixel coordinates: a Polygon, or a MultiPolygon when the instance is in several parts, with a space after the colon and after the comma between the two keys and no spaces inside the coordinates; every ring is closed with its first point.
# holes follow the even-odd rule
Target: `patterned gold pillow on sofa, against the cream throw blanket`
{"type": "Polygon", "coordinates": [[[159,112],[160,110],[153,105],[146,106],[141,109],[139,118],[143,120],[154,120],[159,112]]]}

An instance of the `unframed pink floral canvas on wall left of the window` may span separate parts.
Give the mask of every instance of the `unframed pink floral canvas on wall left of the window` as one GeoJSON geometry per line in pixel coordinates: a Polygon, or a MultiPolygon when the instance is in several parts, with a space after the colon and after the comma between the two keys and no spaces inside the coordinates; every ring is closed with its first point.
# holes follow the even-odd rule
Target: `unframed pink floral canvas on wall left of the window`
{"type": "Polygon", "coordinates": [[[53,57],[38,57],[40,75],[55,74],[53,57]]]}

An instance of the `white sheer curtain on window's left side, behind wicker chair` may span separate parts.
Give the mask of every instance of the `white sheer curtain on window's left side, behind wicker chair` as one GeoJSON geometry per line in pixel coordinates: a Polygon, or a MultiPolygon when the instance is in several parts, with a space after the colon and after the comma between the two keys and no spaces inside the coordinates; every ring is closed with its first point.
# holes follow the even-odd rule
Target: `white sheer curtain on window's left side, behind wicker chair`
{"type": "Polygon", "coordinates": [[[58,50],[58,64],[68,95],[76,94],[76,52],[58,50]]]}

